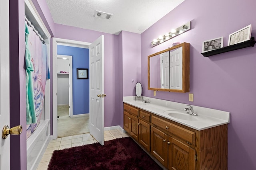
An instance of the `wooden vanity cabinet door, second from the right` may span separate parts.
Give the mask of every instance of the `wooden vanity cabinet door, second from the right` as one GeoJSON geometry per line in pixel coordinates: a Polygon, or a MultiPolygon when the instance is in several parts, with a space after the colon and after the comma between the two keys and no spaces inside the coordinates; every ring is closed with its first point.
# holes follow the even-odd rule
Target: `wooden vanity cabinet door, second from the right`
{"type": "Polygon", "coordinates": [[[167,140],[167,135],[164,132],[151,126],[151,153],[166,168],[168,166],[167,140]]]}

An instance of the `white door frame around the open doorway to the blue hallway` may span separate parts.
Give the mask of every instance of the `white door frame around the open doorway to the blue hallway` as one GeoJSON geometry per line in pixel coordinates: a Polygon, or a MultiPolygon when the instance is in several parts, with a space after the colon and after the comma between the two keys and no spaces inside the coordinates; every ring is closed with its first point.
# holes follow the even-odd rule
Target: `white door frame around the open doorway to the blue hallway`
{"type": "Polygon", "coordinates": [[[66,45],[71,47],[89,48],[91,43],[75,41],[70,39],[52,38],[52,132],[53,139],[58,137],[58,109],[57,109],[57,45],[66,45]]]}

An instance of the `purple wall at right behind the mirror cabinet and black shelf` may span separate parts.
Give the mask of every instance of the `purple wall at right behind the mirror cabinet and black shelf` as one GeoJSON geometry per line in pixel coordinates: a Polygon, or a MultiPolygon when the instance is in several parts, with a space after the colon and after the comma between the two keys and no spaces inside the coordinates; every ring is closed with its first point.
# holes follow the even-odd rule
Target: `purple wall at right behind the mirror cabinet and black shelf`
{"type": "MultiPolygon", "coordinates": [[[[256,114],[254,106],[256,47],[203,57],[202,42],[224,37],[252,24],[256,36],[255,1],[186,0],[141,35],[141,75],[147,74],[147,56],[172,46],[175,42],[190,43],[190,93],[156,92],[144,89],[144,96],[230,112],[228,125],[228,169],[256,169],[256,114]],[[192,29],[165,43],[150,47],[150,42],[172,28],[191,21],[192,29]]],[[[148,81],[142,76],[142,83],[148,81]]]]}

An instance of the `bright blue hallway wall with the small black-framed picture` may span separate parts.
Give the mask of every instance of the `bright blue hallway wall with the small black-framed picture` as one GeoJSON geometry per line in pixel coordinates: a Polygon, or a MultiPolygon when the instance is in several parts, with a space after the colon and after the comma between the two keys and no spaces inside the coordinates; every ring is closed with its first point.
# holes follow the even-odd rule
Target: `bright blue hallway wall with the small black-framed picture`
{"type": "Polygon", "coordinates": [[[89,79],[76,79],[76,68],[89,69],[89,49],[58,45],[57,54],[73,56],[73,115],[89,113],[89,79]]]}

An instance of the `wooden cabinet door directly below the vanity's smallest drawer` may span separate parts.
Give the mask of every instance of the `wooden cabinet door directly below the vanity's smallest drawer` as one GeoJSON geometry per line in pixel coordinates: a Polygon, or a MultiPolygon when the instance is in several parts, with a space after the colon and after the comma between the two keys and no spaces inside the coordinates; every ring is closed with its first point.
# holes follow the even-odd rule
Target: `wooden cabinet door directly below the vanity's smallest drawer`
{"type": "Polygon", "coordinates": [[[139,143],[150,151],[150,124],[139,120],[139,143]]]}

